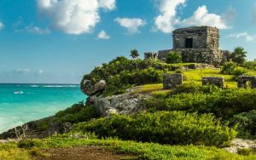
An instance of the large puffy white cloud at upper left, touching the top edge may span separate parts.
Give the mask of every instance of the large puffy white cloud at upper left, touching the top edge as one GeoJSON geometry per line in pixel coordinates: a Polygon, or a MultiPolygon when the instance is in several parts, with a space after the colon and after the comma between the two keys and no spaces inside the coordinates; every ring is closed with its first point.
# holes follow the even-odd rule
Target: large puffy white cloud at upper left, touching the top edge
{"type": "Polygon", "coordinates": [[[79,35],[100,22],[100,9],[115,9],[115,0],[38,0],[38,9],[55,29],[79,35]]]}

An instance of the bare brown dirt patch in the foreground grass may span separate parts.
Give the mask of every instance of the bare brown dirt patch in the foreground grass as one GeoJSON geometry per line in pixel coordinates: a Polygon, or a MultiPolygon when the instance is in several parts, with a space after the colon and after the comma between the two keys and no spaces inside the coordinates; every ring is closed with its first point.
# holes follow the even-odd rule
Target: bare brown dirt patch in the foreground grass
{"type": "Polygon", "coordinates": [[[137,159],[131,155],[118,155],[100,146],[58,148],[46,151],[50,157],[38,160],[127,160],[137,159]]]}

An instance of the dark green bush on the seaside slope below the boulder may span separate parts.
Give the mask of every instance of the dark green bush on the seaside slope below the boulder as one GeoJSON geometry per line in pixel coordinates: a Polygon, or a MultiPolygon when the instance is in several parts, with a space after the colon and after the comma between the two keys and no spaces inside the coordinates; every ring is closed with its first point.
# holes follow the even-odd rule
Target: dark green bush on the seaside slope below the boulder
{"type": "Polygon", "coordinates": [[[80,102],[64,111],[57,112],[55,114],[55,122],[81,123],[96,117],[99,117],[99,115],[95,107],[85,106],[84,102],[80,102]]]}

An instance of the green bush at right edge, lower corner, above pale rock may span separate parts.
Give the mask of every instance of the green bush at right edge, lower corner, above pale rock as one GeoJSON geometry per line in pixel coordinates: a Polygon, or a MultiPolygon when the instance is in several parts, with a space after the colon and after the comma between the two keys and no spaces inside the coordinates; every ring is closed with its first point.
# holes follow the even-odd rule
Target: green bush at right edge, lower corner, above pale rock
{"type": "Polygon", "coordinates": [[[232,126],[237,126],[238,137],[244,139],[256,139],[256,110],[235,115],[231,120],[232,126]]]}

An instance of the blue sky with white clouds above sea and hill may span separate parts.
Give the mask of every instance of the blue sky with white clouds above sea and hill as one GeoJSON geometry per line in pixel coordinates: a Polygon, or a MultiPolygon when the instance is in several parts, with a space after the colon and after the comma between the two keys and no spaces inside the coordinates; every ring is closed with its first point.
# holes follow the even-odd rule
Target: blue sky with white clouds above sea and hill
{"type": "Polygon", "coordinates": [[[217,26],[256,58],[255,0],[1,0],[0,83],[79,83],[131,49],[172,49],[177,27],[217,26]]]}

